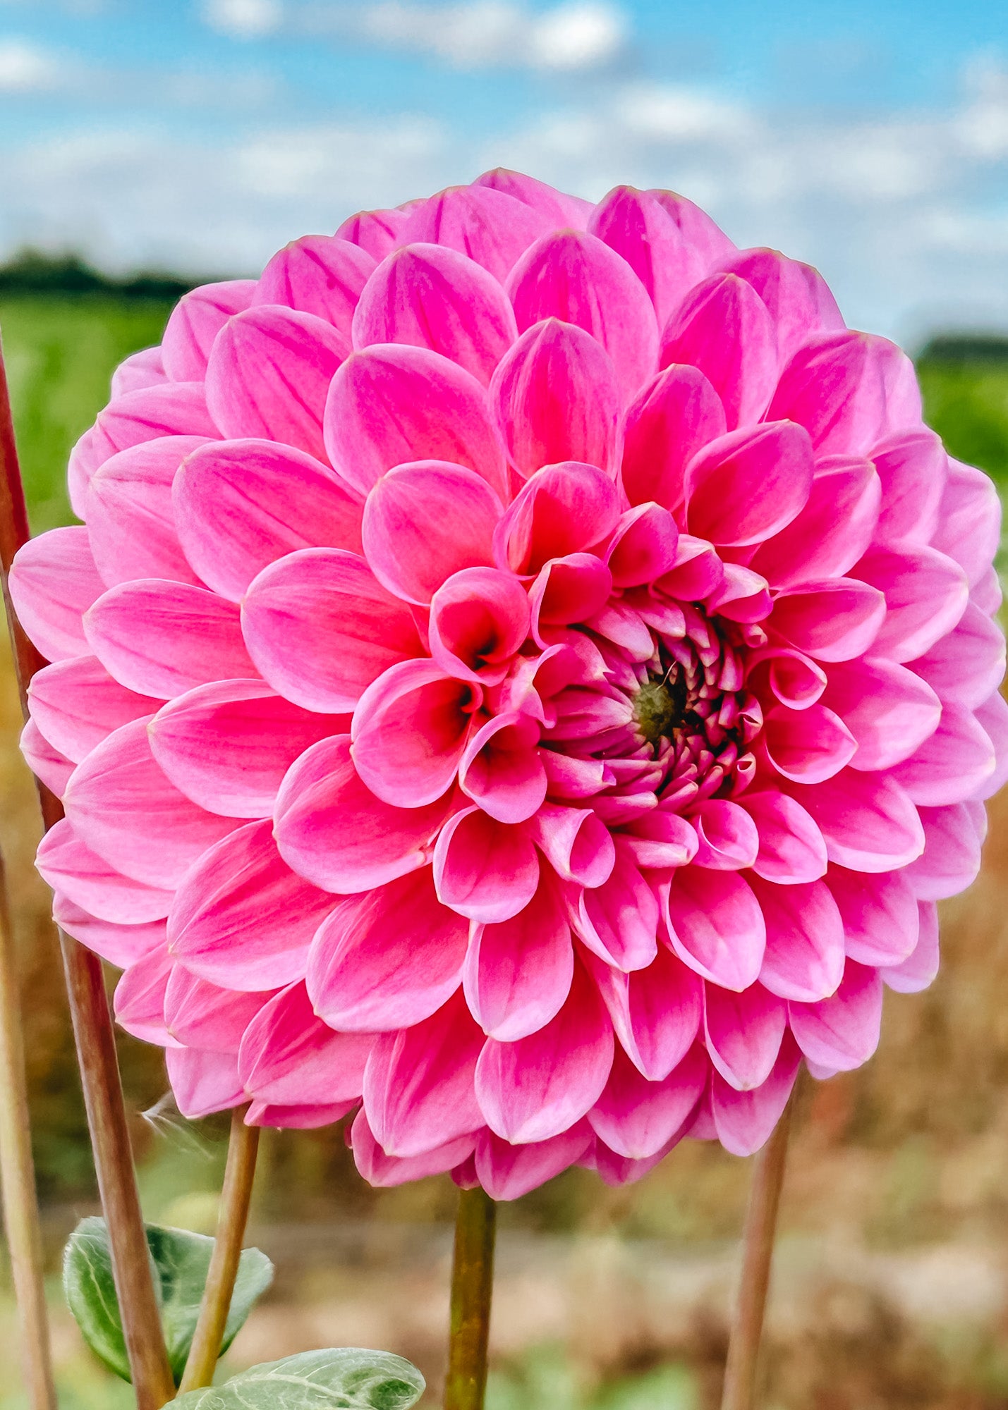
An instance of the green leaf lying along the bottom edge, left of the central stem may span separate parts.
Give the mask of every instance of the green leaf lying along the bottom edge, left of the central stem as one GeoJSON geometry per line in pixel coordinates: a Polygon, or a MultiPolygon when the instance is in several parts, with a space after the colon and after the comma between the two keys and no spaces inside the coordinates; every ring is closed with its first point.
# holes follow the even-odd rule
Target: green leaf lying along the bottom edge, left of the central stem
{"type": "Polygon", "coordinates": [[[340,1347],[253,1366],[223,1386],[191,1390],[175,1410],[409,1410],[426,1389],[419,1371],[388,1351],[340,1347]]]}

